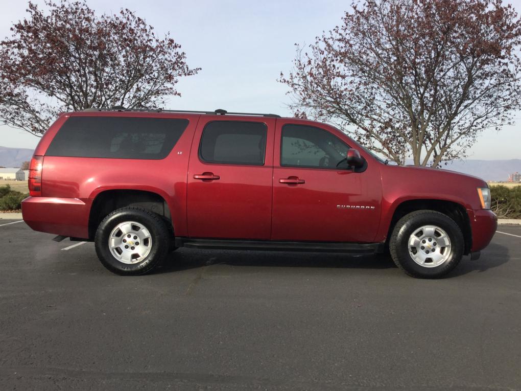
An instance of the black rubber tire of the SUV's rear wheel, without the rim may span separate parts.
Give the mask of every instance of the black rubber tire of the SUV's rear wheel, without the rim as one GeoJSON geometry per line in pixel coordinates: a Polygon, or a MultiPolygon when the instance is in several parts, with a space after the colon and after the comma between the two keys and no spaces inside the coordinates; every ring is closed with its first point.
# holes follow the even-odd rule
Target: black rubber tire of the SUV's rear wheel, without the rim
{"type": "Polygon", "coordinates": [[[130,206],[117,209],[106,216],[97,228],[94,242],[98,258],[108,270],[119,275],[142,275],[151,272],[165,260],[169,251],[170,236],[168,227],[161,216],[140,207],[130,206]],[[118,224],[127,221],[142,224],[150,232],[152,238],[150,252],[143,260],[132,264],[116,259],[108,246],[113,229],[118,224]]]}

